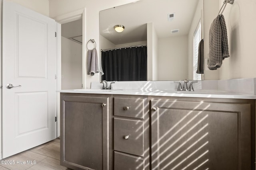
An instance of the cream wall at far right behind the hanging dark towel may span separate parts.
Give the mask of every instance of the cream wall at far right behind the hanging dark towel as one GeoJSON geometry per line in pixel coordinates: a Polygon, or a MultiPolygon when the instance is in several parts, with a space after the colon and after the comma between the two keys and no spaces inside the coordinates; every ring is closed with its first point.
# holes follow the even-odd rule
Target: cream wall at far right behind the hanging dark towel
{"type": "MultiPolygon", "coordinates": [[[[219,2],[220,9],[223,1],[219,2]]],[[[256,77],[256,0],[235,0],[223,16],[230,57],[223,61],[220,79],[256,77]]]]}

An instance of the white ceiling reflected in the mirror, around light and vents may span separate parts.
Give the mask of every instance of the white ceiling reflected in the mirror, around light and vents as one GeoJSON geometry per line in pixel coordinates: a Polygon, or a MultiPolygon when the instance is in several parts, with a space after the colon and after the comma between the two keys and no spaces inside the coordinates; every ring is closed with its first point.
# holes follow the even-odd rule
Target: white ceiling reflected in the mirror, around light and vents
{"type": "Polygon", "coordinates": [[[158,38],[187,35],[198,0],[140,0],[100,11],[100,35],[112,43],[124,44],[146,41],[146,24],[153,23],[158,38]],[[172,21],[168,14],[175,13],[172,21]],[[122,33],[114,25],[124,25],[122,33]],[[179,33],[171,33],[180,29],[179,33]]]}

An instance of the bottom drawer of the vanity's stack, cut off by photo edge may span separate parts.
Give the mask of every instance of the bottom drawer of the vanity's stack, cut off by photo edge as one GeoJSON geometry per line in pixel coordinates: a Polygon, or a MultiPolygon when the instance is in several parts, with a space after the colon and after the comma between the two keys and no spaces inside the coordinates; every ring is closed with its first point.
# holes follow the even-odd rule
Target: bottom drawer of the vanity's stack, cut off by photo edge
{"type": "Polygon", "coordinates": [[[114,151],[114,170],[144,170],[144,158],[114,151]]]}

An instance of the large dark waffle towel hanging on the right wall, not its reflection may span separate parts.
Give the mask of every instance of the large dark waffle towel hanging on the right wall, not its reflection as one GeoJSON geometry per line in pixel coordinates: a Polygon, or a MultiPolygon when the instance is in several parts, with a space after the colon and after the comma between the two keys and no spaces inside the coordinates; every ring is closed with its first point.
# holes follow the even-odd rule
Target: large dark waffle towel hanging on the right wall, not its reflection
{"type": "Polygon", "coordinates": [[[217,70],[226,57],[229,57],[226,22],[223,15],[218,15],[210,27],[208,68],[217,70]]]}

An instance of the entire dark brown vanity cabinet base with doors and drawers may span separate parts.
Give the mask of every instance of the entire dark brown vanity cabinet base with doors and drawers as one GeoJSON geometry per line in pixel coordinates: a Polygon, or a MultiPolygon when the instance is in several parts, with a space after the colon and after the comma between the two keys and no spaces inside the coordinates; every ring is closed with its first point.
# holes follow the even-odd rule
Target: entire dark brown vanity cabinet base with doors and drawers
{"type": "Polygon", "coordinates": [[[61,93],[60,163],[255,170],[255,100],[61,93]]]}

